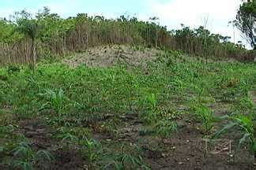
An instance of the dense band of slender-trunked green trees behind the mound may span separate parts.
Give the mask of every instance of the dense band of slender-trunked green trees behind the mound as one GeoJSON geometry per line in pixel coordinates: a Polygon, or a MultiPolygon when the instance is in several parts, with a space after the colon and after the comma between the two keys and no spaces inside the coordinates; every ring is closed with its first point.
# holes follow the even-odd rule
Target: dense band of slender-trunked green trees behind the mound
{"type": "Polygon", "coordinates": [[[130,44],[181,50],[204,57],[232,57],[252,61],[253,56],[244,46],[229,42],[229,37],[210,33],[203,27],[168,31],[151,21],[121,16],[115,20],[85,13],[63,19],[44,8],[32,16],[25,10],[10,20],[0,20],[0,64],[29,63],[70,52],[85,51],[90,46],[130,44]]]}

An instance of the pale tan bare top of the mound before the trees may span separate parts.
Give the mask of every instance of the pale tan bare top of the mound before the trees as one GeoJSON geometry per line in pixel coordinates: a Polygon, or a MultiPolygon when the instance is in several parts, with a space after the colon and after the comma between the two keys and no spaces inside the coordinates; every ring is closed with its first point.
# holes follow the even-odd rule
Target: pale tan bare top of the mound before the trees
{"type": "Polygon", "coordinates": [[[117,63],[127,65],[145,65],[147,61],[156,59],[157,54],[163,53],[160,50],[141,48],[133,46],[100,46],[88,49],[84,53],[74,54],[63,62],[70,67],[77,67],[85,64],[92,67],[109,67],[117,63]]]}

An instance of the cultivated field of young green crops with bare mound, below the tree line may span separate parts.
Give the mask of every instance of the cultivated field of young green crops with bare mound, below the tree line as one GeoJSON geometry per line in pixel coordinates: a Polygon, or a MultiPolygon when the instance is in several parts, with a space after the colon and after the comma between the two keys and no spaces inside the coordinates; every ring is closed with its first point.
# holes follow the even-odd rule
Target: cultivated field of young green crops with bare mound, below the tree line
{"type": "Polygon", "coordinates": [[[98,51],[0,68],[0,169],[254,169],[256,65],[98,51]]]}

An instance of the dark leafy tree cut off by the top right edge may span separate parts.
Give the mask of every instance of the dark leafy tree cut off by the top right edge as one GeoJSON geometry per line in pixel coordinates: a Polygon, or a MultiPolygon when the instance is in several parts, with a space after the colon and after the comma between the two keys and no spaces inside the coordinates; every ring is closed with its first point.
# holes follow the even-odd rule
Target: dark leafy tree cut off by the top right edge
{"type": "Polygon", "coordinates": [[[256,0],[248,0],[243,2],[239,7],[236,15],[235,26],[243,32],[245,39],[250,43],[250,46],[256,50],[256,0]]]}

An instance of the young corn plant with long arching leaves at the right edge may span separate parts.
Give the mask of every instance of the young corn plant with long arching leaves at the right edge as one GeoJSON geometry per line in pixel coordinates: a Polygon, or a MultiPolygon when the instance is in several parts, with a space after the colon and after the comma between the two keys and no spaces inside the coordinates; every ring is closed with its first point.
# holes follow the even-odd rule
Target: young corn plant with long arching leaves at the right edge
{"type": "Polygon", "coordinates": [[[249,152],[254,154],[254,164],[256,163],[256,139],[255,139],[255,122],[253,115],[238,115],[233,116],[229,124],[226,124],[220,131],[216,131],[213,139],[219,138],[229,130],[239,127],[239,132],[242,137],[239,139],[238,147],[240,148],[244,143],[249,142],[249,152]]]}

